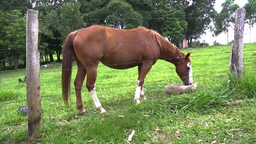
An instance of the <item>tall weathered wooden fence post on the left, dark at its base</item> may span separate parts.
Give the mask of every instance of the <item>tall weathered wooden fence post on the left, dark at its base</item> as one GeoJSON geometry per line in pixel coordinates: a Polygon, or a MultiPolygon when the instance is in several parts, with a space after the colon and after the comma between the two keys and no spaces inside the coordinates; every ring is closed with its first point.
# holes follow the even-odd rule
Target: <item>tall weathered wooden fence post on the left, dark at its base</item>
{"type": "Polygon", "coordinates": [[[38,52],[38,11],[27,10],[27,116],[28,142],[36,139],[40,127],[40,55],[38,52]]]}

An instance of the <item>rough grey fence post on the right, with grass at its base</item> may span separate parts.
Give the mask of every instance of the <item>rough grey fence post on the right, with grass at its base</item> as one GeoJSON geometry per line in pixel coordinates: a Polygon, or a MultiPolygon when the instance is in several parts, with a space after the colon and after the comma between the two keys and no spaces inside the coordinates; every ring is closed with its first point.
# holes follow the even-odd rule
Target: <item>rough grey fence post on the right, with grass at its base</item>
{"type": "Polygon", "coordinates": [[[235,73],[238,80],[243,77],[243,29],[245,27],[244,8],[236,10],[234,45],[231,45],[230,73],[235,73]]]}

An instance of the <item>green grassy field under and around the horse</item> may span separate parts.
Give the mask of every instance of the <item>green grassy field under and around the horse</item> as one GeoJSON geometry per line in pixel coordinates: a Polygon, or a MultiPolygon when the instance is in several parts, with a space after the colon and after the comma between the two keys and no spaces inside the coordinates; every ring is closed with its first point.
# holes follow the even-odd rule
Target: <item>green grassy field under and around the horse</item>
{"type": "MultiPolygon", "coordinates": [[[[85,86],[79,115],[75,93],[69,107],[61,95],[61,64],[41,67],[42,123],[36,143],[255,143],[256,44],[244,45],[245,77],[237,85],[228,81],[230,46],[210,46],[192,52],[194,93],[172,95],[164,86],[181,83],[174,66],[158,61],[146,77],[146,101],[135,105],[137,68],[98,67],[97,95],[106,115],[95,110],[85,86]]],[[[75,69],[76,67],[74,67],[75,69]]],[[[0,71],[0,143],[27,143],[27,117],[18,113],[26,105],[25,69],[0,71]]],[[[76,70],[73,70],[72,81],[76,70]]],[[[72,82],[73,83],[73,82],[72,82]]]]}

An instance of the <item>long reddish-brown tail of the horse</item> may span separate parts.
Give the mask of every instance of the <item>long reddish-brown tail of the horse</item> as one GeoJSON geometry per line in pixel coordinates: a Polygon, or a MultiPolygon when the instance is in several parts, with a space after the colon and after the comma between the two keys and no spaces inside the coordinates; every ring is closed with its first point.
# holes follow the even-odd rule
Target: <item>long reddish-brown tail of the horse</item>
{"type": "Polygon", "coordinates": [[[68,105],[68,97],[70,95],[70,82],[72,75],[72,64],[73,64],[73,56],[74,56],[74,46],[73,41],[77,35],[77,31],[70,33],[64,44],[62,49],[62,77],[61,77],[61,86],[62,86],[62,97],[64,103],[68,105]]]}

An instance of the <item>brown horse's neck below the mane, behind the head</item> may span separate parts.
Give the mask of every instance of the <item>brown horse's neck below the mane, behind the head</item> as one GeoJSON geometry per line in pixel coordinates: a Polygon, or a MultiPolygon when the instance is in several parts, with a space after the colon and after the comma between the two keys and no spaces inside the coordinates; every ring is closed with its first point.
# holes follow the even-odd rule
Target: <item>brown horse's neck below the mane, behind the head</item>
{"type": "Polygon", "coordinates": [[[161,56],[160,59],[163,59],[165,61],[171,62],[174,65],[181,60],[182,57],[185,57],[185,54],[181,52],[178,47],[171,44],[171,46],[168,47],[161,47],[161,56]]]}

